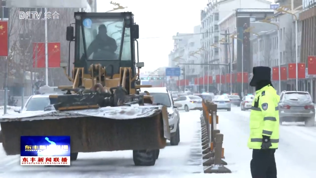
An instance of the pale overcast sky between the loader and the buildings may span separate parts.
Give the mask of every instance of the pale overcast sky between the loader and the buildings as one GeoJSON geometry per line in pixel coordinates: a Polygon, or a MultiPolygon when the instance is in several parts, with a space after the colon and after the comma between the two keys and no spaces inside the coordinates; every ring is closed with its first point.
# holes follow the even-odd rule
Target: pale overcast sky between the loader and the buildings
{"type": "MultiPolygon", "coordinates": [[[[97,11],[111,10],[111,0],[97,0],[97,11]]],[[[208,0],[113,0],[128,8],[139,24],[139,59],[145,62],[144,71],[168,65],[168,54],[173,49],[172,36],[193,33],[200,24],[200,10],[208,0]]],[[[271,0],[272,1],[272,0],[271,0]]],[[[120,12],[119,10],[116,12],[120,12]]]]}

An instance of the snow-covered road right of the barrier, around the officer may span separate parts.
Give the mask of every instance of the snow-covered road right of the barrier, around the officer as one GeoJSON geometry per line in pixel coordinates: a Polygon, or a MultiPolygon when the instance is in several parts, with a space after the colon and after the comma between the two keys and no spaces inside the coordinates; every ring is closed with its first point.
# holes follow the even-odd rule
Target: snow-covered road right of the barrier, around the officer
{"type": "MultiPolygon", "coordinates": [[[[252,150],[247,148],[250,111],[219,111],[219,129],[224,134],[225,157],[232,175],[218,178],[251,178],[252,150]]],[[[283,123],[280,126],[279,149],[276,150],[278,178],[315,178],[316,127],[304,123],[283,123]]],[[[217,177],[216,177],[217,178],[217,177]]]]}

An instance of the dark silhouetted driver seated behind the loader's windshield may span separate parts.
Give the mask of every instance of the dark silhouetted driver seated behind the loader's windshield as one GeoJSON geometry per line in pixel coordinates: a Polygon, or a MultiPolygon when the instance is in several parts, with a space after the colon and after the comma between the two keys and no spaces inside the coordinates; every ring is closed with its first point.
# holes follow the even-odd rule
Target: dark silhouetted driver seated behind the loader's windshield
{"type": "Polygon", "coordinates": [[[99,33],[87,48],[87,56],[93,53],[92,59],[116,59],[115,51],[118,48],[116,40],[109,37],[107,27],[99,26],[99,33]]]}

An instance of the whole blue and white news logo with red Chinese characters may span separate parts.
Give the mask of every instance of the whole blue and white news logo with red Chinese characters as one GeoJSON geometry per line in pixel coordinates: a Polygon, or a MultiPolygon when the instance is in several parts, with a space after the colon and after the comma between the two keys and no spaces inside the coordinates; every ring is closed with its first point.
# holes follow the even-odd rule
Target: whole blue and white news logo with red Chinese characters
{"type": "Polygon", "coordinates": [[[21,136],[21,165],[70,166],[70,136],[21,136]]]}

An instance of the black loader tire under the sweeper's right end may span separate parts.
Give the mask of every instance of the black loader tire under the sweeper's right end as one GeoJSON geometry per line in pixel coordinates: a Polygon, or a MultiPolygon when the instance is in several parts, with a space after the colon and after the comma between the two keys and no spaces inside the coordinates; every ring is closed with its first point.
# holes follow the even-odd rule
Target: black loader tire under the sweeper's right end
{"type": "Polygon", "coordinates": [[[157,150],[133,150],[135,166],[154,166],[157,158],[157,150]]]}

